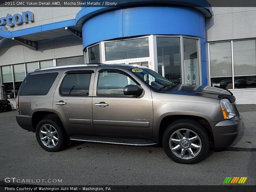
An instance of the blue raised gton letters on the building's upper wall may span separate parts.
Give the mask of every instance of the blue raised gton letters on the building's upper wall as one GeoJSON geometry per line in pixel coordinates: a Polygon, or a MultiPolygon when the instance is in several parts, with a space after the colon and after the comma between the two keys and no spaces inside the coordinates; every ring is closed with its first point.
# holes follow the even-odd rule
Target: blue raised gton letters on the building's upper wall
{"type": "Polygon", "coordinates": [[[22,12],[22,14],[16,13],[13,16],[7,13],[6,17],[0,18],[0,29],[6,29],[5,25],[14,27],[16,25],[22,25],[23,23],[34,22],[34,14],[31,11],[22,12]]]}

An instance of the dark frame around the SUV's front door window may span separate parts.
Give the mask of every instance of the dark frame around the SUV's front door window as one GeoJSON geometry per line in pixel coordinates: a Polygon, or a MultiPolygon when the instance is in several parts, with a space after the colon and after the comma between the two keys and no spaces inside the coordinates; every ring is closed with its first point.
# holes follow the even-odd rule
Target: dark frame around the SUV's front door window
{"type": "MultiPolygon", "coordinates": [[[[97,77],[97,84],[96,84],[96,96],[97,97],[107,97],[107,98],[137,98],[137,96],[133,96],[133,95],[99,95],[98,94],[98,85],[99,85],[99,79],[100,79],[100,73],[102,72],[114,72],[114,73],[120,73],[122,75],[125,75],[127,77],[129,77],[132,81],[134,81],[134,83],[136,83],[136,85],[140,86],[140,83],[138,81],[136,81],[131,75],[129,75],[128,73],[126,73],[123,70],[120,69],[100,69],[98,71],[98,77],[97,77]]],[[[143,89],[144,91],[144,89],[143,89]]]]}

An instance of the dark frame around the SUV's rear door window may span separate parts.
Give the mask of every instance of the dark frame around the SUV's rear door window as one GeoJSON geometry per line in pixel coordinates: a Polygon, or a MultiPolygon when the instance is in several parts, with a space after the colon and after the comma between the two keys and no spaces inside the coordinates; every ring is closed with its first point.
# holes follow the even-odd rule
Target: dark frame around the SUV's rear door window
{"type": "Polygon", "coordinates": [[[76,72],[73,72],[73,71],[67,71],[65,72],[65,75],[63,76],[62,80],[61,80],[61,83],[60,83],[60,86],[59,86],[59,94],[61,97],[88,97],[90,95],[90,84],[91,84],[91,81],[92,81],[92,73],[94,73],[93,70],[82,70],[79,72],[76,71],[76,72]],[[90,82],[89,82],[89,88],[88,88],[88,94],[63,94],[61,92],[61,87],[62,87],[62,84],[66,78],[67,75],[69,74],[91,74],[91,77],[90,77],[90,82]]]}

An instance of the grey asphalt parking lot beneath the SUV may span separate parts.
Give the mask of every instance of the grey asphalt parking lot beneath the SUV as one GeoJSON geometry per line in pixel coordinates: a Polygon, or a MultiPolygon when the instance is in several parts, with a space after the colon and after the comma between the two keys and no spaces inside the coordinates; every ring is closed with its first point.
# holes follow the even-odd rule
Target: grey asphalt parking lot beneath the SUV
{"type": "Polygon", "coordinates": [[[35,133],[16,123],[16,110],[0,111],[0,182],[5,178],[61,179],[44,185],[221,185],[225,177],[248,177],[256,185],[256,105],[239,105],[240,134],[229,148],[211,150],[204,161],[173,162],[162,147],[71,143],[50,153],[35,133]]]}

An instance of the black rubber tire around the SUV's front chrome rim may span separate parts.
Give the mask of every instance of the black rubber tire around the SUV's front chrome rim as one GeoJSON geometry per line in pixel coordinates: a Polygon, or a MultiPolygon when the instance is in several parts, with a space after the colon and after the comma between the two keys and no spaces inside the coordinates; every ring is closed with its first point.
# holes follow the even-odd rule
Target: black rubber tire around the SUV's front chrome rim
{"type": "MultiPolygon", "coordinates": [[[[173,139],[175,139],[175,138],[173,138],[173,139]]],[[[195,143],[193,143],[193,144],[195,144],[195,143]]],[[[168,157],[170,157],[173,161],[175,161],[177,163],[181,163],[181,164],[195,164],[195,163],[202,161],[207,156],[207,154],[209,152],[209,148],[210,148],[209,135],[202,124],[200,124],[194,120],[190,120],[190,119],[180,119],[180,120],[174,121],[165,130],[164,135],[163,135],[163,147],[164,147],[164,151],[165,151],[166,155],[168,157]],[[187,130],[184,130],[184,129],[190,130],[190,132],[189,132],[190,135],[188,138],[196,136],[196,134],[197,134],[197,136],[200,139],[197,139],[193,142],[197,142],[196,145],[198,145],[198,146],[201,145],[200,150],[190,147],[191,146],[190,140],[180,139],[180,137],[182,137],[182,136],[185,137],[185,133],[187,130]],[[178,130],[180,130],[179,132],[182,135],[180,137],[178,137],[178,134],[177,134],[178,130]],[[176,144],[176,142],[171,142],[172,144],[170,144],[169,141],[171,139],[171,136],[172,136],[172,138],[176,137],[177,140],[180,140],[180,141],[177,141],[180,143],[176,144]],[[182,140],[185,140],[182,143],[182,145],[184,145],[184,146],[181,145],[182,140]],[[200,141],[201,141],[201,144],[200,144],[200,141]],[[180,147],[181,148],[178,149],[177,152],[176,151],[172,152],[173,148],[171,149],[171,145],[173,145],[172,146],[173,148],[176,147],[177,145],[180,145],[180,146],[178,146],[178,148],[180,148],[180,147]],[[192,152],[195,156],[192,156],[190,154],[191,152],[190,152],[189,148],[192,150],[192,152]],[[185,154],[186,154],[183,158],[181,157],[182,151],[185,151],[185,154]],[[176,153],[176,155],[174,153],[176,153]],[[180,153],[180,156],[178,156],[179,153],[180,153]]]]}

